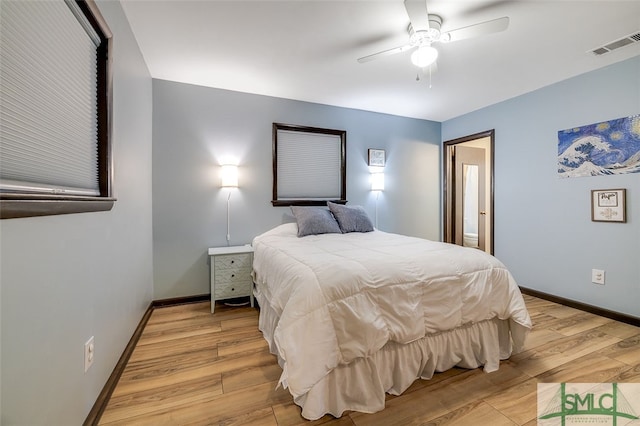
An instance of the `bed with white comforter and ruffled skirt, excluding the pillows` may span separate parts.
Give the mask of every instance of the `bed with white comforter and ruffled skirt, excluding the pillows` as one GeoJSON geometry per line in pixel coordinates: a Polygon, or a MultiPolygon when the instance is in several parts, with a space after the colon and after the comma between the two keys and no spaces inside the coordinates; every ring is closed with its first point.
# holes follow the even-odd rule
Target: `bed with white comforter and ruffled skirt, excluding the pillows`
{"type": "MultiPolygon", "coordinates": [[[[326,211],[326,210],[325,210],[326,211]]],[[[302,416],[373,413],[454,366],[495,371],[531,328],[509,271],[480,250],[371,230],[253,241],[259,328],[302,416]]]]}

